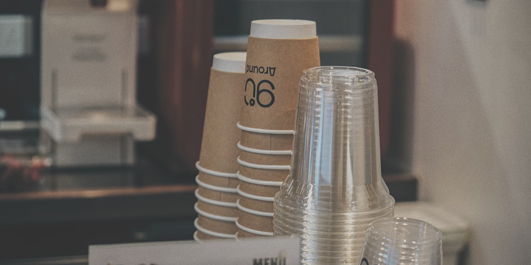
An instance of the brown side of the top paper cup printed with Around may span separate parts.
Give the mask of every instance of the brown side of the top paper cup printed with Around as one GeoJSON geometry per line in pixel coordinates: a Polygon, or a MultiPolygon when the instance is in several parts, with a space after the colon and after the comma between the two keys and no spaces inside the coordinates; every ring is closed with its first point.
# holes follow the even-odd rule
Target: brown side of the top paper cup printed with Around
{"type": "Polygon", "coordinates": [[[242,116],[245,127],[293,130],[302,71],[320,66],[319,41],[249,36],[242,116]]]}

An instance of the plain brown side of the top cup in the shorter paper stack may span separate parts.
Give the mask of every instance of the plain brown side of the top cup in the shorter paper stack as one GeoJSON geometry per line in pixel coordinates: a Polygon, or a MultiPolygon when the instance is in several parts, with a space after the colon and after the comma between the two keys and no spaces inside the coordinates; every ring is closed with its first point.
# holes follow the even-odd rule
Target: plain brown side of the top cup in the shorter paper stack
{"type": "Polygon", "coordinates": [[[235,173],[240,130],[236,127],[241,111],[240,89],[243,73],[210,70],[199,164],[206,169],[235,173]]]}

